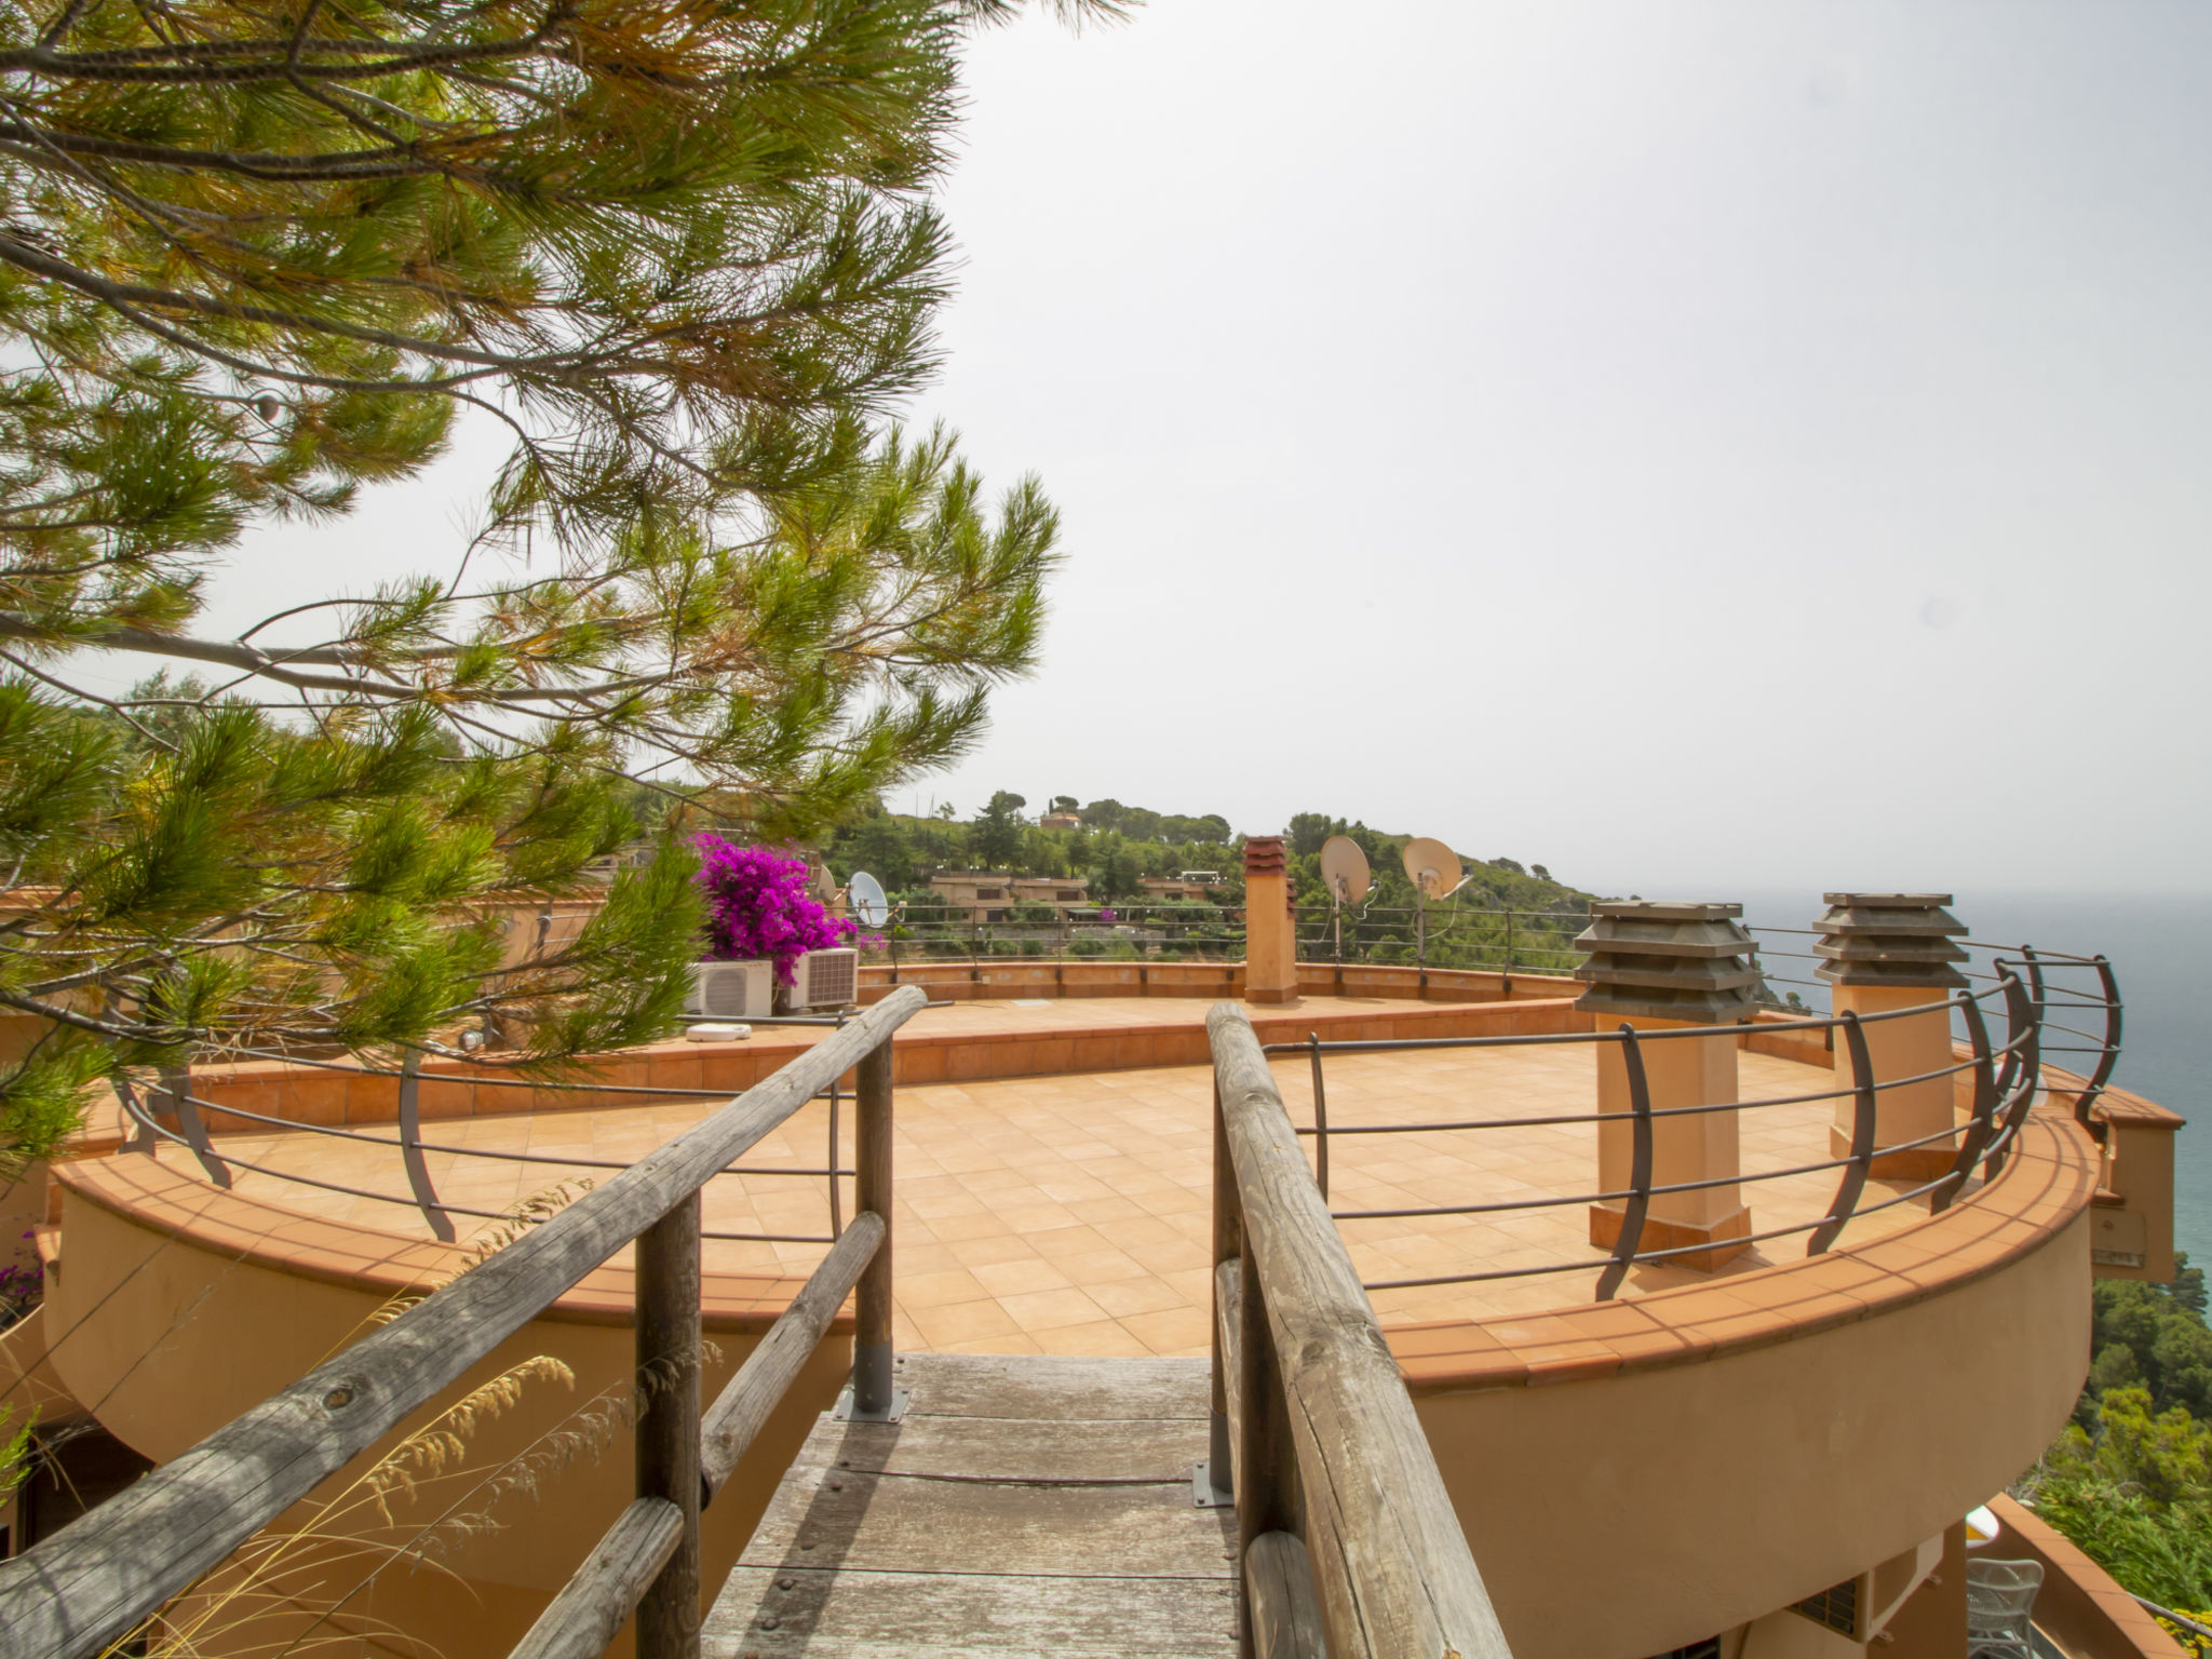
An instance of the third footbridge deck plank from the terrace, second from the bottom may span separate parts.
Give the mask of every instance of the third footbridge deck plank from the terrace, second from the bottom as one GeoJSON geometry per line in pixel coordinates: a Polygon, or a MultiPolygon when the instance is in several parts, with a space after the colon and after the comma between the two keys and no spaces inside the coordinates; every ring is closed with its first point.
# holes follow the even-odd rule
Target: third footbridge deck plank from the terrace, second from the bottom
{"type": "Polygon", "coordinates": [[[1188,1473],[1146,1484],[799,1473],[779,1486],[741,1564],[1210,1579],[1234,1564],[1234,1517],[1192,1506],[1188,1473]]]}

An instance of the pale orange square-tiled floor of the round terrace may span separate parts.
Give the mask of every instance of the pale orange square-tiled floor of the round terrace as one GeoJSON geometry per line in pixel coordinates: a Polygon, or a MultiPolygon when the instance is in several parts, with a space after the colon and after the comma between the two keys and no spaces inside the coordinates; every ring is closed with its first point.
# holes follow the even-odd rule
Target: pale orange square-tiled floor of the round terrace
{"type": "MultiPolygon", "coordinates": [[[[969,1013],[967,1009],[947,1013],[969,1013]]],[[[984,1011],[975,1011],[982,1015],[984,1011]]],[[[1104,1011],[1099,1011],[1104,1013],[1104,1011]]],[[[991,1018],[991,1015],[987,1015],[991,1018]]],[[[1006,1018],[1004,1013],[995,1018],[1006,1018]]],[[[1743,1053],[1745,1099],[1827,1088],[1827,1073],[1743,1053]]],[[[1400,1051],[1332,1057],[1332,1124],[1526,1117],[1588,1113],[1593,1051],[1531,1048],[1400,1051]]],[[[1303,1057],[1276,1064],[1296,1121],[1312,1121],[1303,1057]]],[[[1210,1073],[1201,1066],[1009,1077],[909,1086],[898,1093],[898,1343],[909,1349],[995,1354],[1199,1354],[1208,1334],[1208,1237],[1212,1130],[1210,1073]]],[[[425,1139],[538,1157],[630,1161],[695,1124],[712,1102],[471,1117],[425,1126],[425,1139]]],[[[1829,1106],[1783,1106],[1743,1119],[1745,1170],[1829,1157],[1829,1106]]],[[[845,1113],[843,1159],[852,1161],[845,1113]]],[[[392,1130],[376,1130],[389,1135],[392,1130]]],[[[398,1150],[323,1135],[226,1135],[219,1148],[270,1170],[405,1194],[398,1150]]],[[[823,1234],[827,1183],[774,1175],[821,1168],[827,1104],[816,1102],[745,1159],[745,1175],[708,1186],[710,1232],[823,1234]]],[[[161,1152],[179,1161],[179,1148],[161,1152]]],[[[584,1175],[551,1164],[431,1152],[438,1194],[453,1206],[504,1212],[560,1179],[584,1175]]],[[[407,1203],[321,1192],[239,1170],[243,1194],[325,1221],[380,1232],[427,1234],[407,1203]]],[[[1349,1135],[1332,1141],[1332,1201],[1338,1210],[1420,1203],[1484,1203],[1595,1188],[1595,1128],[1571,1124],[1517,1130],[1349,1135]]],[[[1754,1228],[1812,1223],[1836,1190],[1834,1172],[1745,1188],[1754,1228]]],[[[1900,1188],[1869,1183],[1863,1203],[1900,1188]]],[[[852,1186],[845,1183],[845,1214],[852,1186]]],[[[1924,1217],[1922,1201],[1854,1221],[1845,1243],[1924,1217]]],[[[462,1237],[471,1228],[458,1219],[462,1237]]],[[[1489,1217],[1347,1221],[1363,1276],[1537,1267],[1590,1261],[1584,1206],[1489,1217]]],[[[708,1241],[708,1270],[805,1272],[818,1243],[708,1241]]],[[[1803,1252],[1803,1234],[1739,1256],[1723,1274],[1750,1272],[1803,1252]]],[[[1577,1267],[1526,1279],[1376,1292],[1385,1323],[1528,1314],[1586,1303],[1597,1272],[1577,1267]]],[[[1641,1267],[1626,1294],[1703,1283],[1688,1267],[1641,1267]]]]}

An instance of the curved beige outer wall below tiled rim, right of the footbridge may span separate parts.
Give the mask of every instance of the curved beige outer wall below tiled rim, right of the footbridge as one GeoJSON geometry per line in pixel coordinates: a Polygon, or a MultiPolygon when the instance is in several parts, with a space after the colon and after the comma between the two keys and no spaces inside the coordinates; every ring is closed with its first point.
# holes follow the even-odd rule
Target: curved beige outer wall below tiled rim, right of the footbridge
{"type": "Polygon", "coordinates": [[[1418,1398],[1515,1659],[1666,1652],[1940,1533],[2066,1422],[2088,1283],[2077,1214],[2000,1272],[1849,1325],[1418,1398]]]}

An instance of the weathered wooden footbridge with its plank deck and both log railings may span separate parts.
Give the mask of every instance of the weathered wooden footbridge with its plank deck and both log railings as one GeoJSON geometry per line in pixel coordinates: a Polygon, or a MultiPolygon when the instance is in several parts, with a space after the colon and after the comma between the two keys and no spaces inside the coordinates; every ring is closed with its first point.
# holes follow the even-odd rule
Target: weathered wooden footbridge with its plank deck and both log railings
{"type": "Polygon", "coordinates": [[[0,1564],[0,1659],[93,1659],[637,1243],[637,1500],[511,1659],[1504,1659],[1429,1442],[1243,1011],[1214,1053],[1214,1356],[891,1352],[900,989],[290,1389],[0,1564]],[[699,1188],[856,1073],[858,1214],[712,1405],[699,1188]],[[728,1582],[699,1511],[836,1310],[852,1387],[728,1582]]]}

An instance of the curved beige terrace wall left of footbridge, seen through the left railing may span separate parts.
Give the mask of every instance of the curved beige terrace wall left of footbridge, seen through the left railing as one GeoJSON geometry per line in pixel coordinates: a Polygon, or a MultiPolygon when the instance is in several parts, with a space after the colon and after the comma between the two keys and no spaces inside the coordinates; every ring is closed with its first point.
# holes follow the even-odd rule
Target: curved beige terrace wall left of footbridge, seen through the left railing
{"type": "MultiPolygon", "coordinates": [[[[197,1444],[356,1340],[380,1305],[374,1292],[228,1259],[75,1192],[64,1201],[62,1228],[62,1272],[44,1307],[55,1334],[53,1367],[111,1433],[155,1462],[197,1444]]],[[[438,1566],[387,1568],[352,1608],[378,1624],[436,1637],[438,1650],[451,1659],[507,1652],[633,1495],[630,1436],[622,1422],[599,1436],[597,1451],[580,1449],[564,1467],[553,1455],[560,1447],[546,1440],[580,1429],[577,1411],[602,1391],[626,1396],[630,1340],[626,1325],[538,1318],[473,1367],[442,1405],[533,1356],[562,1360],[575,1374],[575,1387],[533,1383],[511,1411],[469,1438],[460,1478],[425,1486],[414,1500],[394,1500],[389,1528],[367,1506],[345,1526],[400,1542],[456,1502],[460,1513],[471,1513],[480,1500],[469,1498],[469,1489],[531,1447],[544,1464],[535,1491],[507,1493],[491,1509],[491,1524],[458,1537],[436,1557],[438,1566]]],[[[706,1374],[706,1396],[712,1398],[759,1338],[710,1329],[708,1340],[719,1349],[706,1374]]],[[[745,1467],[708,1509],[708,1584],[721,1584],[737,1562],[776,1480],[799,1453],[814,1416],[836,1400],[849,1367],[849,1336],[823,1340],[745,1467]]],[[[425,1411],[403,1427],[414,1431],[429,1416],[425,1411]]],[[[392,1436],[334,1475],[279,1524],[305,1524],[316,1502],[354,1482],[396,1440],[392,1436]]],[[[363,1577],[361,1557],[314,1564],[307,1568],[310,1584],[294,1584],[292,1590],[316,1599],[312,1579],[319,1577],[352,1588],[363,1577]]],[[[327,1590],[321,1595],[330,1599],[327,1590]]],[[[241,1637],[215,1650],[243,1646],[241,1637]]]]}

